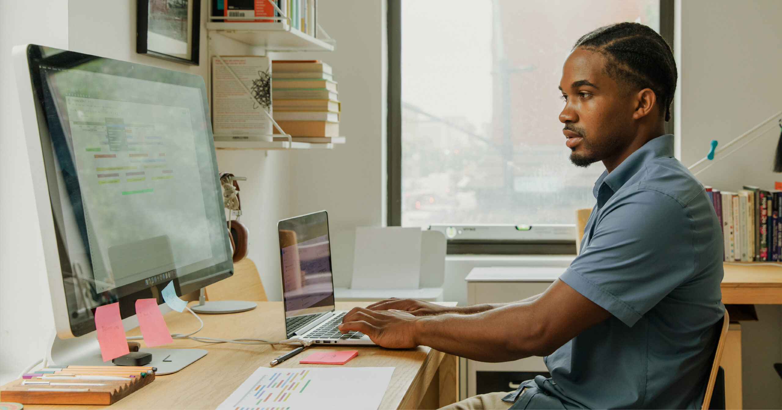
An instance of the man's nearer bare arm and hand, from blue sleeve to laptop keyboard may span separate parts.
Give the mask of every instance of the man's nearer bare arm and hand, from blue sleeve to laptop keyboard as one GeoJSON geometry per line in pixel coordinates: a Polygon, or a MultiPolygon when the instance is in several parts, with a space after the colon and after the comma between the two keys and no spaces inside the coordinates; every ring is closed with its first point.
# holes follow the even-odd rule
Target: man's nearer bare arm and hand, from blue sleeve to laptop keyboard
{"type": "Polygon", "coordinates": [[[425,345],[480,362],[508,362],[549,355],[611,316],[561,280],[529,299],[472,315],[413,316],[354,308],[339,329],[360,331],[386,348],[425,345]]]}

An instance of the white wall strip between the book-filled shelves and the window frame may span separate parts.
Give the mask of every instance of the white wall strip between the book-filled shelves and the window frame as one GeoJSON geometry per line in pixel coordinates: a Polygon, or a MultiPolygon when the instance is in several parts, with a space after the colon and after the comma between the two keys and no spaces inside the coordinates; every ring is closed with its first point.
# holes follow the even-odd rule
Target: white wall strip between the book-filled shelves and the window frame
{"type": "Polygon", "coordinates": [[[290,54],[322,59],[339,82],[340,134],[332,151],[291,156],[289,216],[328,211],[337,287],[350,286],[356,226],[386,224],[386,2],[319,0],[318,21],[335,51],[290,54]]]}

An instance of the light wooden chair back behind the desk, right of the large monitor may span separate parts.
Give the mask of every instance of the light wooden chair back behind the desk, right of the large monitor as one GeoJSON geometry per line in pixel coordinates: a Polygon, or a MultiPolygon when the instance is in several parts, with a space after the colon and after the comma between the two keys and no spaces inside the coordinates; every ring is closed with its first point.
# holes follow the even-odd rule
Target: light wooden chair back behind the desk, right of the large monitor
{"type": "Polygon", "coordinates": [[[244,258],[234,264],[234,275],[206,287],[207,301],[268,301],[255,262],[244,258]]]}

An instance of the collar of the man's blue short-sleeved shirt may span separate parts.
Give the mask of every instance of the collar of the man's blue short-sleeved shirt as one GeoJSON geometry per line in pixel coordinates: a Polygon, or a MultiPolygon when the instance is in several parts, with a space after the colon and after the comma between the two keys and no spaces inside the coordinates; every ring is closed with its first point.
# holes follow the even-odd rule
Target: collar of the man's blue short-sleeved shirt
{"type": "Polygon", "coordinates": [[[605,170],[594,183],[592,189],[594,198],[597,198],[602,184],[608,185],[613,192],[619,191],[619,188],[638,173],[647,162],[659,157],[673,157],[673,134],[665,134],[648,141],[636,152],[630,154],[611,173],[605,170]]]}

